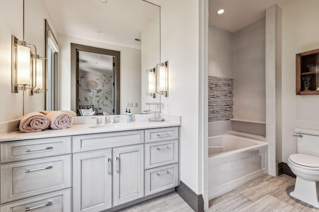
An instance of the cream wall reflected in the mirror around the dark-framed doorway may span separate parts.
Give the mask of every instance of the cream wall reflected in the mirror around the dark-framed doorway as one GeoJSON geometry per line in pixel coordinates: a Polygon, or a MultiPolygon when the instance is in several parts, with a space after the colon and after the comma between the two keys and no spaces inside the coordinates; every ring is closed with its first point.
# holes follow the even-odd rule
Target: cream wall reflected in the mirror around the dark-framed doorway
{"type": "MultiPolygon", "coordinates": [[[[110,49],[121,52],[121,114],[125,113],[126,103],[138,102],[131,113],[141,113],[141,50],[100,43],[66,35],[59,35],[58,108],[70,110],[71,100],[71,43],[110,49]]],[[[134,106],[134,104],[133,104],[134,106]]]]}

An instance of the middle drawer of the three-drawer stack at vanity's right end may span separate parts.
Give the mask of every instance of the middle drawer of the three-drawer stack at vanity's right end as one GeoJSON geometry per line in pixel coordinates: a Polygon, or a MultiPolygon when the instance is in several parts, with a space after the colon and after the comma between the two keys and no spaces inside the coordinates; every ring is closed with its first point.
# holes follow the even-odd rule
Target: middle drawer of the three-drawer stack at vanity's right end
{"type": "Polygon", "coordinates": [[[145,169],[178,162],[178,140],[145,144],[145,169]]]}

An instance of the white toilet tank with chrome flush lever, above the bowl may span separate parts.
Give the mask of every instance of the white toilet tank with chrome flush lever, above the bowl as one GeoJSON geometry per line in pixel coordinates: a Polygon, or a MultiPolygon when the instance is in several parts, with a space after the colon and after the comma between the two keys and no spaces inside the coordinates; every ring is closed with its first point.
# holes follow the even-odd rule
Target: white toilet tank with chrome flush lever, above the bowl
{"type": "Polygon", "coordinates": [[[319,156],[319,131],[312,132],[295,129],[295,132],[301,137],[297,137],[297,152],[319,156]],[[307,133],[307,134],[305,134],[307,133]]]}

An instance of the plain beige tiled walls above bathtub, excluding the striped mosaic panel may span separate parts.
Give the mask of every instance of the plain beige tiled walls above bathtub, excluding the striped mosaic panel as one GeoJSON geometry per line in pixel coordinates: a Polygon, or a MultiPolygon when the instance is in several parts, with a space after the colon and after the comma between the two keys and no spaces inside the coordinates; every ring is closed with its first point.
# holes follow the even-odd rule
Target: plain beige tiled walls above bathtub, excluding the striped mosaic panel
{"type": "MultiPolygon", "coordinates": [[[[263,18],[234,33],[209,26],[208,75],[233,79],[234,119],[266,120],[265,23],[263,18]]],[[[217,115],[209,109],[210,122],[230,117],[221,111],[224,118],[212,118],[217,115]]]]}

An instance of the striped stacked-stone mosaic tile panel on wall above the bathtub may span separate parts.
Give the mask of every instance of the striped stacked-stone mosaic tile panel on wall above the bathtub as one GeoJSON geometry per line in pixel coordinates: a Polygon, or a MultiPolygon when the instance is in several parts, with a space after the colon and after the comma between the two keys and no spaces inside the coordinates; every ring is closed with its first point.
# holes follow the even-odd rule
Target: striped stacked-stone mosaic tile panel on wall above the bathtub
{"type": "Polygon", "coordinates": [[[233,79],[208,76],[208,121],[233,118],[233,79]]]}

